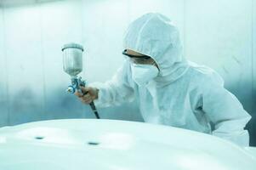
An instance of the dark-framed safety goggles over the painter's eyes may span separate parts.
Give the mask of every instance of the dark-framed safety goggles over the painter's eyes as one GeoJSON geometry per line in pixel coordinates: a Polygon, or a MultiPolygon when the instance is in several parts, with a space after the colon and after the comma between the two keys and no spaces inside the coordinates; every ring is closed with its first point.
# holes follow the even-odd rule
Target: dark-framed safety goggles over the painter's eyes
{"type": "Polygon", "coordinates": [[[147,55],[132,55],[127,54],[127,49],[123,50],[123,55],[128,57],[133,63],[140,64],[140,65],[152,65],[155,63],[154,59],[152,59],[150,56],[147,55]]]}

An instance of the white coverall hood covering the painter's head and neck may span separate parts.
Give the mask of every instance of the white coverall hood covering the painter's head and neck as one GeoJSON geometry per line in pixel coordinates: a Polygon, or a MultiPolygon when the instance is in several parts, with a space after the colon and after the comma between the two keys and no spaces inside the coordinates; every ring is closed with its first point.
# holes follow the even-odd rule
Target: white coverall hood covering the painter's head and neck
{"type": "Polygon", "coordinates": [[[156,85],[165,86],[182,77],[188,70],[178,29],[166,16],[144,14],[128,26],[124,48],[151,56],[159,67],[156,85]]]}

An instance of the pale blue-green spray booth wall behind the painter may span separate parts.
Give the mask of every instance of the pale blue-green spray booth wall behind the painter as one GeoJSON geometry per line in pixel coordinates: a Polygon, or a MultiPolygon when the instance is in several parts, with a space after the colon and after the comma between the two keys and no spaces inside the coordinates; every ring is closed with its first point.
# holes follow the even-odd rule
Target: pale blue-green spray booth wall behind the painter
{"type": "MultiPolygon", "coordinates": [[[[256,144],[255,1],[1,1],[1,127],[94,118],[87,105],[65,93],[70,77],[62,71],[61,46],[82,43],[81,76],[88,82],[105,82],[122,65],[122,36],[128,24],[141,14],[160,12],[179,27],[185,56],[218,71],[225,87],[253,116],[247,127],[251,144],[256,144]]],[[[136,102],[99,112],[103,118],[142,121],[136,102]]]]}

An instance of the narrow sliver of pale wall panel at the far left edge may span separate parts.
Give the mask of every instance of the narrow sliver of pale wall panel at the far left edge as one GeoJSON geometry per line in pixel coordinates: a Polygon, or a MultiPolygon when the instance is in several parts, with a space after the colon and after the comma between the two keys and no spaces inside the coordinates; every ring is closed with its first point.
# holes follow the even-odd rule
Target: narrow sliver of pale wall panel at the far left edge
{"type": "Polygon", "coordinates": [[[0,127],[9,123],[3,24],[3,9],[0,7],[0,127]]]}

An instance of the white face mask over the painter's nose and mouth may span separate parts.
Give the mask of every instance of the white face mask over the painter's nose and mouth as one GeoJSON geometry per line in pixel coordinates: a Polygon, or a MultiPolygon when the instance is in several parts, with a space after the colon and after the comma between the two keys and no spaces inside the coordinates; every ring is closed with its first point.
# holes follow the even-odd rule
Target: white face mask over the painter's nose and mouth
{"type": "Polygon", "coordinates": [[[132,64],[132,78],[139,86],[146,86],[153,78],[157,77],[158,69],[154,65],[132,64]]]}

